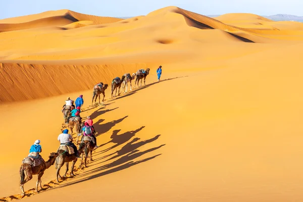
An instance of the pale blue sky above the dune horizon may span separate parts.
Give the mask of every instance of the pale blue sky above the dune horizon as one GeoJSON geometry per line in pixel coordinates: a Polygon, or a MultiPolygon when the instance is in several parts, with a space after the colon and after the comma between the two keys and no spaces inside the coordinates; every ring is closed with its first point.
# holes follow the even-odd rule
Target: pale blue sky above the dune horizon
{"type": "Polygon", "coordinates": [[[290,14],[303,16],[303,0],[0,0],[0,19],[69,9],[79,13],[132,17],[177,6],[203,15],[254,13],[258,15],[290,14]]]}

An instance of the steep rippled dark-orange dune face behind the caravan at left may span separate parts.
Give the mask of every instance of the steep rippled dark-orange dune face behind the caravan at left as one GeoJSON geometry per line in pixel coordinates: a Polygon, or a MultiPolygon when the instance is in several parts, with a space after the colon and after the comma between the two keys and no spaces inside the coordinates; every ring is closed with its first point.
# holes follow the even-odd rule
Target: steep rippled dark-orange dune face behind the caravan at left
{"type": "Polygon", "coordinates": [[[0,102],[24,101],[93,89],[99,82],[111,86],[114,77],[145,67],[145,64],[76,66],[0,63],[0,78],[3,80],[0,83],[0,102]]]}

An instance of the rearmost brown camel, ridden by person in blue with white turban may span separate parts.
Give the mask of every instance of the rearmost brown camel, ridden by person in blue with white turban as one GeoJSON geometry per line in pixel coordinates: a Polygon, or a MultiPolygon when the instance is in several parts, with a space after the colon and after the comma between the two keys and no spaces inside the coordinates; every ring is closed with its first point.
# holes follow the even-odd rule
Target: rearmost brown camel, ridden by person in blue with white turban
{"type": "Polygon", "coordinates": [[[39,166],[35,166],[33,167],[30,164],[22,164],[20,167],[20,188],[21,188],[21,196],[25,195],[24,192],[24,184],[26,182],[28,182],[29,180],[31,180],[33,178],[33,175],[38,175],[38,180],[36,183],[36,192],[38,193],[38,185],[40,184],[40,188],[42,188],[41,185],[41,177],[44,174],[44,171],[46,169],[48,169],[49,167],[51,167],[52,165],[54,165],[55,163],[55,159],[58,156],[58,153],[51,153],[50,156],[48,156],[48,160],[45,162],[44,160],[42,160],[42,164],[40,164],[39,166]]]}

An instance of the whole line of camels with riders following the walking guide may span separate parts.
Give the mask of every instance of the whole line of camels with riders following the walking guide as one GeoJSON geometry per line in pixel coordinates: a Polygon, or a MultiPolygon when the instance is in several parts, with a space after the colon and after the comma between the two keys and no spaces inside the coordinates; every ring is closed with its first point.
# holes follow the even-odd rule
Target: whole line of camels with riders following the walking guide
{"type": "MultiPolygon", "coordinates": [[[[112,98],[113,93],[115,92],[115,96],[117,94],[120,95],[120,90],[127,93],[128,83],[130,84],[130,91],[132,90],[132,80],[135,80],[136,85],[139,87],[139,81],[141,80],[140,87],[142,86],[142,79],[144,80],[149,73],[149,68],[139,69],[136,73],[130,75],[130,73],[125,73],[120,77],[116,77],[112,80],[112,98]],[[126,90],[125,90],[126,87],[126,90]]],[[[97,97],[99,97],[100,103],[100,95],[103,94],[104,101],[105,98],[105,90],[108,88],[108,84],[99,83],[93,88],[93,97],[91,104],[93,103],[93,99],[96,102],[97,97]]],[[[115,97],[114,96],[114,97],[115,97]]],[[[36,140],[34,144],[30,147],[29,154],[22,160],[22,165],[19,170],[20,174],[20,188],[21,188],[21,196],[25,195],[24,192],[24,184],[32,179],[33,175],[38,175],[36,182],[36,192],[38,192],[38,186],[42,190],[41,185],[41,177],[44,174],[44,171],[55,164],[55,168],[57,170],[57,182],[60,179],[64,179],[69,171],[69,163],[72,163],[71,166],[71,176],[74,176],[74,165],[77,162],[78,158],[81,158],[80,166],[82,164],[82,160],[84,158],[84,166],[87,167],[87,158],[90,156],[90,160],[92,161],[92,151],[97,148],[96,138],[95,138],[95,130],[93,128],[92,119],[87,116],[87,119],[84,123],[82,123],[82,118],[80,116],[81,113],[81,105],[83,104],[82,95],[79,97],[80,102],[76,100],[76,103],[71,100],[69,97],[65,101],[65,104],[62,107],[62,113],[64,118],[64,123],[62,124],[62,134],[58,136],[58,140],[60,141],[60,146],[57,149],[57,152],[52,152],[48,156],[48,160],[45,161],[40,152],[42,152],[42,148],[40,145],[40,140],[36,140]],[[82,101],[81,101],[82,99],[82,101]],[[80,104],[79,104],[80,103],[80,104]],[[76,104],[76,106],[75,106],[76,104]],[[63,130],[64,128],[68,128],[63,130]],[[69,134],[70,132],[70,134],[69,134]],[[79,145],[77,148],[73,143],[73,133],[77,134],[76,144],[79,145]],[[79,137],[82,135],[82,138],[79,143],[79,137]],[[80,156],[82,154],[82,157],[80,156]],[[60,170],[62,166],[66,165],[65,174],[63,178],[60,175],[60,170]]],[[[78,99],[78,98],[77,98],[78,99]]]]}

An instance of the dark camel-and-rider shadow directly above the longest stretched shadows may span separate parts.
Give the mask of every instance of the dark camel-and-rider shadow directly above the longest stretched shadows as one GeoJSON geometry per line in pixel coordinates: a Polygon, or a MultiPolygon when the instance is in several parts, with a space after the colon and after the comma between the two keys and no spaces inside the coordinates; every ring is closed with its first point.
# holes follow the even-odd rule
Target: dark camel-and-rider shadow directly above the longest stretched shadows
{"type": "MultiPolygon", "coordinates": [[[[98,153],[97,155],[101,154],[101,153],[104,153],[104,152],[107,152],[111,149],[114,149],[115,147],[119,146],[119,145],[122,145],[124,143],[126,143],[127,141],[129,141],[132,137],[134,137],[136,135],[136,133],[138,133],[139,131],[141,131],[143,128],[145,128],[145,126],[142,126],[141,128],[138,128],[137,130],[135,131],[128,131],[126,133],[123,133],[121,135],[118,135],[118,133],[121,131],[121,130],[114,130],[113,131],[113,134],[111,136],[112,140],[105,143],[105,144],[102,144],[100,145],[99,147],[102,147],[106,144],[109,144],[109,143],[116,143],[115,145],[111,146],[110,148],[107,148],[107,149],[104,149],[102,151],[98,151],[96,153],[98,153]]],[[[96,154],[95,153],[95,154],[96,154]]]]}

